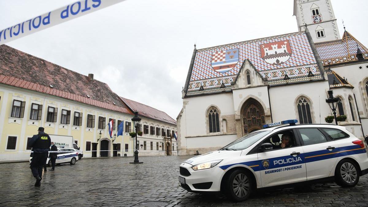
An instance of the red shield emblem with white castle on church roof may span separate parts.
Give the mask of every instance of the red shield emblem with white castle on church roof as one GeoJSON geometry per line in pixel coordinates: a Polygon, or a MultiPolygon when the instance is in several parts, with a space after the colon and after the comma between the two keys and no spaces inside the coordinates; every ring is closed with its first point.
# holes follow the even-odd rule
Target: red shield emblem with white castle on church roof
{"type": "Polygon", "coordinates": [[[291,57],[289,40],[270,42],[260,45],[261,57],[264,61],[273,65],[281,65],[291,57]]]}

